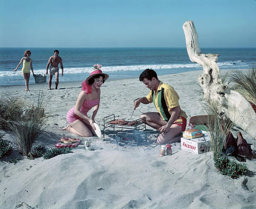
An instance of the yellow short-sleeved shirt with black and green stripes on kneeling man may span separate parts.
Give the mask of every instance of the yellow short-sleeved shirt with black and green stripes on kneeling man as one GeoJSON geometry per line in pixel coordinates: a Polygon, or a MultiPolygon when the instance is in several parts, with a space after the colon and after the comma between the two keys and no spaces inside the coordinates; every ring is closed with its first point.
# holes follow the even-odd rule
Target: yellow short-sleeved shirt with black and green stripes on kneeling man
{"type": "MultiPolygon", "coordinates": [[[[157,92],[150,90],[146,98],[148,99],[149,103],[154,102],[158,113],[160,113],[160,116],[162,116],[166,122],[168,122],[171,118],[172,108],[180,106],[180,97],[174,88],[168,84],[162,83],[161,81],[157,88],[157,92]]],[[[174,123],[182,124],[181,116],[185,119],[187,118],[186,113],[181,110],[179,118],[174,123]]]]}

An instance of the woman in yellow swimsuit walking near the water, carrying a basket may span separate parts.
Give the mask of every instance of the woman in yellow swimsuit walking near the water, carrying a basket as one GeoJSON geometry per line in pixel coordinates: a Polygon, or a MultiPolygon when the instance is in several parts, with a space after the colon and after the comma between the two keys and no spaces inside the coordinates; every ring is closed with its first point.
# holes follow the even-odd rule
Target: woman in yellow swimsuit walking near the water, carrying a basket
{"type": "Polygon", "coordinates": [[[17,68],[14,69],[14,71],[16,72],[18,67],[20,67],[21,63],[23,62],[23,67],[21,69],[21,73],[25,80],[25,86],[26,86],[25,90],[26,91],[29,91],[29,77],[30,77],[29,65],[30,65],[30,69],[33,73],[33,76],[35,75],[34,71],[33,71],[33,66],[32,66],[32,59],[29,58],[30,55],[31,55],[31,52],[29,50],[24,51],[24,57],[20,60],[20,63],[17,66],[17,68]]]}

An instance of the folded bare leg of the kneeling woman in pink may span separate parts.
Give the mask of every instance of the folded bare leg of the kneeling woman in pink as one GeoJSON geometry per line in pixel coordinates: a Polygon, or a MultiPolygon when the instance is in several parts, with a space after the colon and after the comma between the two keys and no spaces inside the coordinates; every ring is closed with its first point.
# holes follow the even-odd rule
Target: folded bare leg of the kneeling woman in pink
{"type": "Polygon", "coordinates": [[[86,124],[84,124],[84,122],[80,121],[80,120],[76,120],[73,123],[70,123],[69,125],[67,125],[67,127],[64,128],[65,130],[68,130],[71,133],[75,133],[79,136],[82,137],[90,137],[93,136],[92,132],[90,131],[90,129],[87,127],[86,124]]]}

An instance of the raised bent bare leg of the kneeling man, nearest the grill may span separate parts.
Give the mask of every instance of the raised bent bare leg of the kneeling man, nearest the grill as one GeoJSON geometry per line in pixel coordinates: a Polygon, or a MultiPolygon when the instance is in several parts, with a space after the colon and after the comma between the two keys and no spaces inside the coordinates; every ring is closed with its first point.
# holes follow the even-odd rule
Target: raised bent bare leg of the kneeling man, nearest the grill
{"type": "Polygon", "coordinates": [[[154,129],[159,129],[160,127],[166,125],[166,121],[159,115],[159,113],[151,112],[151,113],[143,113],[140,118],[146,119],[146,124],[154,129]]]}

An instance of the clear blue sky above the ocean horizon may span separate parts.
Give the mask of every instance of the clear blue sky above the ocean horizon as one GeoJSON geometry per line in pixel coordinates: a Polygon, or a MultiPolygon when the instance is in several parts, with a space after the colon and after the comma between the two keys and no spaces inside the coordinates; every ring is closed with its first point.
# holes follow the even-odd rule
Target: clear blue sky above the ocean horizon
{"type": "Polygon", "coordinates": [[[0,47],[256,47],[256,0],[0,0],[0,47]]]}

